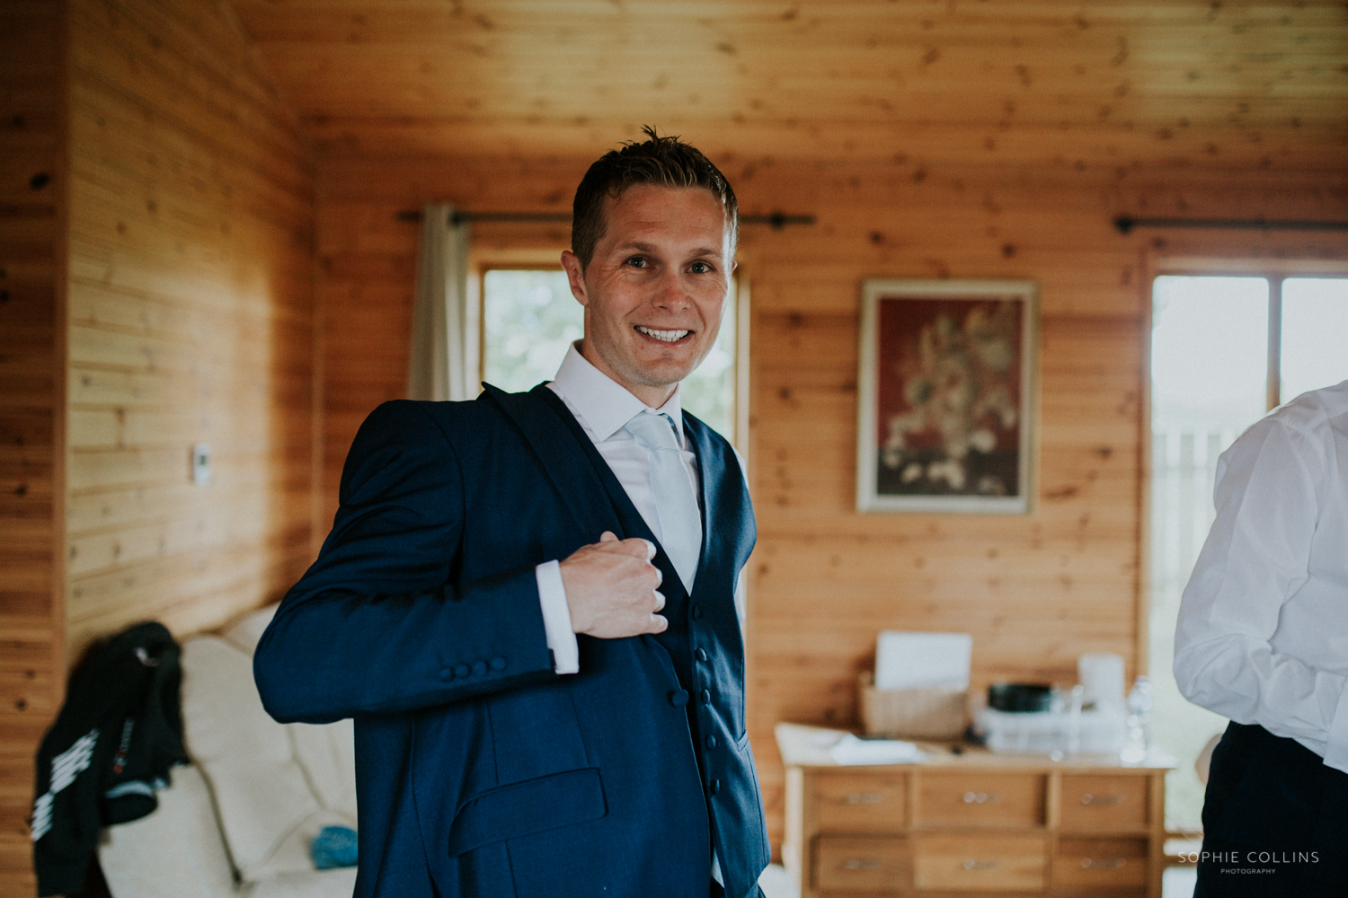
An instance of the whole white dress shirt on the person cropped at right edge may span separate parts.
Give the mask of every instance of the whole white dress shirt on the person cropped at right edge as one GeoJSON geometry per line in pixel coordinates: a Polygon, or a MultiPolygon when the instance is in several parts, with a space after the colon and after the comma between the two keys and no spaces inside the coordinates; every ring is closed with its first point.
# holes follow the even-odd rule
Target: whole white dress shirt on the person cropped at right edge
{"type": "Polygon", "coordinates": [[[1180,607],[1180,691],[1348,771],[1348,381],[1242,434],[1215,499],[1180,607]]]}

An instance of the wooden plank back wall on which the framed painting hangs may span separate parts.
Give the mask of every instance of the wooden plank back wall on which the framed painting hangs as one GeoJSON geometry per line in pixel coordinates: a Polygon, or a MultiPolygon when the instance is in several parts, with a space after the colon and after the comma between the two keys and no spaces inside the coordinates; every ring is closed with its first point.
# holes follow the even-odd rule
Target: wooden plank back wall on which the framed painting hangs
{"type": "MultiPolygon", "coordinates": [[[[941,168],[724,159],[743,209],[818,215],[745,228],[752,284],[754,495],[749,720],[774,843],[783,780],[778,720],[851,723],[856,675],[884,627],[964,630],[975,687],[1074,677],[1086,650],[1138,630],[1146,258],[1171,237],[1122,237],[1119,213],[1344,218],[1341,174],[941,168]],[[1182,176],[1181,176],[1182,174],[1182,176]],[[856,341],[867,277],[1038,281],[1039,464],[1024,517],[853,512],[856,341]]],[[[319,160],[325,319],[325,514],[360,420],[402,396],[417,226],[403,209],[565,210],[588,160],[319,160]]],[[[1348,257],[1344,241],[1182,236],[1184,254],[1348,257]]],[[[566,229],[479,225],[488,248],[563,244],[566,229]]]]}

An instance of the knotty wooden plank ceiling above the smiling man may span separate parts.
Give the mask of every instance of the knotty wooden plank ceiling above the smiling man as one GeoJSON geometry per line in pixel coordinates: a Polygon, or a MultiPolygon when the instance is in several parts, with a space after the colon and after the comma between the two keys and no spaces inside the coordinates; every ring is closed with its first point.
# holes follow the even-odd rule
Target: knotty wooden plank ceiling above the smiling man
{"type": "Polygon", "coordinates": [[[1343,0],[233,0],[322,151],[1348,168],[1343,0]]]}

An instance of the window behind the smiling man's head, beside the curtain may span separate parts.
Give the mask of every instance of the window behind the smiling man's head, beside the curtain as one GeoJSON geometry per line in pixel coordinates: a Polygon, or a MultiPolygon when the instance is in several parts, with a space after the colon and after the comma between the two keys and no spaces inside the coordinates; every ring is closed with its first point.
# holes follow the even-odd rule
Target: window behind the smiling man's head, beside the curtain
{"type": "MultiPolygon", "coordinates": [[[[489,268],[483,273],[483,380],[507,392],[553,380],[568,347],[584,333],[584,308],[557,269],[489,268]]],[[[683,381],[683,408],[740,444],[737,397],[743,378],[744,298],[732,279],[716,346],[683,381]]],[[[744,353],[747,355],[747,353],[744,353]]],[[[741,450],[743,451],[743,450],[741,450]]]]}

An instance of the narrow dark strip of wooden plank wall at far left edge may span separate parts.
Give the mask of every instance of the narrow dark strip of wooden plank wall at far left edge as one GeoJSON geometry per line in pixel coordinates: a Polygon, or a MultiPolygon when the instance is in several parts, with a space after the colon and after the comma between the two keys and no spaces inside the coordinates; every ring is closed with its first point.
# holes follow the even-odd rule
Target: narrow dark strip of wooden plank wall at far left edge
{"type": "Polygon", "coordinates": [[[59,701],[62,4],[0,5],[0,895],[34,894],[32,755],[59,701]]]}

